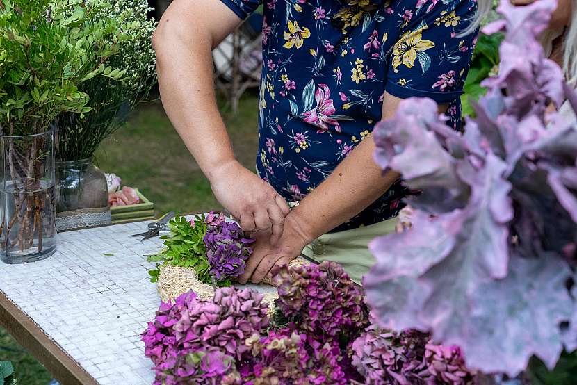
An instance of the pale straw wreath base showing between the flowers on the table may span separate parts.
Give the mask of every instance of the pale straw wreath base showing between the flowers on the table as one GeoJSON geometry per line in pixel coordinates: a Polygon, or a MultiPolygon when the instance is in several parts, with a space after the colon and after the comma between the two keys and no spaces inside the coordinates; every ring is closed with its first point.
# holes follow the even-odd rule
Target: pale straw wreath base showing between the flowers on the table
{"type": "MultiPolygon", "coordinates": [[[[289,263],[289,268],[308,263],[309,262],[301,258],[293,259],[293,261],[289,263]]],[[[270,279],[264,279],[263,284],[272,286],[273,283],[270,279]]],[[[211,300],[214,297],[212,285],[199,281],[193,269],[179,268],[178,266],[161,266],[157,288],[163,302],[172,302],[174,298],[186,293],[188,290],[193,290],[201,300],[211,300]]],[[[263,293],[263,296],[263,302],[268,304],[268,316],[271,316],[275,308],[275,300],[278,298],[278,293],[263,293]]]]}

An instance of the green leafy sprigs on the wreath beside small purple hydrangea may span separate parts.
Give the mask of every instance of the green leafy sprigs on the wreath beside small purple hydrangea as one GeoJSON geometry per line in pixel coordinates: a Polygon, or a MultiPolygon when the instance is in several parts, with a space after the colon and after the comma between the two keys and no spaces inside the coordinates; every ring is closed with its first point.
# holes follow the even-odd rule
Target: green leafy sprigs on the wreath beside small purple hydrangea
{"type": "MultiPolygon", "coordinates": [[[[156,282],[162,265],[192,268],[197,278],[204,284],[211,284],[209,260],[206,258],[205,216],[198,215],[194,223],[184,217],[174,218],[169,222],[170,236],[162,236],[165,249],[159,254],[148,256],[147,261],[156,262],[156,268],[149,270],[150,281],[156,282]]],[[[219,286],[230,286],[230,281],[219,282],[219,286]]]]}

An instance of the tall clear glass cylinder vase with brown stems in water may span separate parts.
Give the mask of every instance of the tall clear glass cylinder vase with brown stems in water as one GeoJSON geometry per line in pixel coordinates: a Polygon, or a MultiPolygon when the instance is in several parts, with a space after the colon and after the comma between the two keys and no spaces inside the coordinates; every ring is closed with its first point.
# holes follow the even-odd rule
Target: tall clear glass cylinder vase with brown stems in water
{"type": "Polygon", "coordinates": [[[40,261],[56,251],[54,132],[0,141],[0,260],[40,261]]]}

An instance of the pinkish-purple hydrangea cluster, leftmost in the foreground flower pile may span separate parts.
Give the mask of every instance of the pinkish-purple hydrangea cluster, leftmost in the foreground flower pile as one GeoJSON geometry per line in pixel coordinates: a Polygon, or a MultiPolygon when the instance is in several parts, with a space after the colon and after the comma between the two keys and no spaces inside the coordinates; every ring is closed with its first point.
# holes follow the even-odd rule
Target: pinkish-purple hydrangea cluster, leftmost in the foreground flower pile
{"type": "Polygon", "coordinates": [[[213,300],[188,292],[174,304],[161,303],[142,334],[155,384],[234,383],[245,341],[268,326],[262,299],[248,289],[218,288],[213,300]]]}

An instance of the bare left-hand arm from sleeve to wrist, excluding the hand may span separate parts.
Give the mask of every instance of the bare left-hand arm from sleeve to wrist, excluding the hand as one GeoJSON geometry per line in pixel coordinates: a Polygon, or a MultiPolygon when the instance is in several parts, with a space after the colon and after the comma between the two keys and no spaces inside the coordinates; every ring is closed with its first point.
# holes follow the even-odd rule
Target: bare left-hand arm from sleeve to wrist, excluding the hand
{"type": "Polygon", "coordinates": [[[177,0],[154,34],[164,109],[209,179],[216,165],[234,161],[216,104],[211,51],[240,22],[220,1],[177,0]]]}

